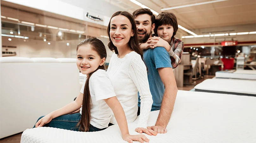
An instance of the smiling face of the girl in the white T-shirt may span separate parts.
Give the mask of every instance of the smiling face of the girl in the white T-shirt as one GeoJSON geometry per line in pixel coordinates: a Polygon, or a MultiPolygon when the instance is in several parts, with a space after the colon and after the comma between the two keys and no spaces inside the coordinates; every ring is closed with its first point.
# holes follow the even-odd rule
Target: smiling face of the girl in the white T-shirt
{"type": "Polygon", "coordinates": [[[82,74],[89,74],[94,72],[99,66],[105,62],[105,58],[100,58],[100,55],[93,51],[90,44],[78,47],[77,50],[77,67],[82,74]]]}

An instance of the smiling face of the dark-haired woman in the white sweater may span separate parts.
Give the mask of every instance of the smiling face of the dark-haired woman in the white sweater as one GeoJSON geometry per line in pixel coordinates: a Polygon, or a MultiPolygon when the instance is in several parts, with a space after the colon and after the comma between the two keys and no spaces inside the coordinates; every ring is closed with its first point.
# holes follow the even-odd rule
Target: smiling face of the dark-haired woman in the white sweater
{"type": "Polygon", "coordinates": [[[131,36],[134,36],[130,20],[123,15],[113,17],[110,21],[109,35],[116,47],[127,47],[131,36]]]}

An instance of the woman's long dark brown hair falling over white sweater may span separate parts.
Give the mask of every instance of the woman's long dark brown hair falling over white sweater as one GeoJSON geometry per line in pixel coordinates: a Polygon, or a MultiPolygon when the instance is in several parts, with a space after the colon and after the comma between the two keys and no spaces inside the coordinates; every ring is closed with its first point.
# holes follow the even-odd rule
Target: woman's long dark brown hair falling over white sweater
{"type": "MultiPolygon", "coordinates": [[[[128,42],[128,47],[129,47],[132,51],[135,51],[135,52],[137,52],[138,54],[140,54],[140,56],[141,56],[141,58],[142,58],[142,60],[143,60],[143,53],[142,53],[142,50],[141,50],[140,47],[139,47],[139,40],[138,40],[138,35],[137,35],[137,27],[136,27],[136,24],[135,24],[135,21],[134,21],[133,16],[132,16],[130,13],[128,13],[127,11],[118,11],[118,12],[116,12],[116,13],[114,13],[114,14],[112,15],[111,19],[112,19],[113,17],[117,16],[117,15],[123,15],[123,16],[127,17],[127,18],[130,20],[130,22],[131,22],[131,24],[132,24],[132,30],[133,30],[133,32],[134,32],[134,36],[131,36],[131,38],[130,38],[130,40],[129,40],[129,42],[128,42]]],[[[117,48],[116,48],[116,46],[113,44],[113,42],[111,41],[110,34],[109,34],[109,32],[110,32],[110,21],[111,21],[111,19],[109,20],[108,33],[107,33],[108,36],[109,36],[109,44],[108,44],[108,46],[109,46],[109,49],[110,49],[111,51],[115,50],[115,53],[118,54],[117,48]]]]}

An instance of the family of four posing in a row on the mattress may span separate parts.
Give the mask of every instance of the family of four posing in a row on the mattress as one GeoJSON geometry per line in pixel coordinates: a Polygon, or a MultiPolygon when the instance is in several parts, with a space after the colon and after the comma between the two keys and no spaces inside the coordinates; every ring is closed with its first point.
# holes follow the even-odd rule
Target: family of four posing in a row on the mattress
{"type": "Polygon", "coordinates": [[[54,127],[93,132],[118,124],[123,140],[149,142],[143,135],[129,135],[127,123],[138,117],[138,133],[166,133],[178,92],[173,68],[181,61],[184,43],[175,38],[174,14],[156,17],[147,8],[112,15],[107,34],[114,51],[106,71],[107,52],[102,41],[88,38],[77,46],[77,67],[86,74],[77,98],[40,117],[34,128],[54,127]],[[152,34],[154,32],[154,34],[152,34]],[[160,110],[154,126],[147,126],[150,112],[160,110]],[[140,115],[140,116],[138,116],[140,115]]]}

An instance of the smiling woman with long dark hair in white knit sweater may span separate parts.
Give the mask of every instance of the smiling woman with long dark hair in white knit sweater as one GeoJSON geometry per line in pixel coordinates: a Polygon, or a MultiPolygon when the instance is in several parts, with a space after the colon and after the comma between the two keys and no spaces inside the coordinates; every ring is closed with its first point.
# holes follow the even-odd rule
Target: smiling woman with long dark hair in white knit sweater
{"type": "MultiPolygon", "coordinates": [[[[141,100],[138,128],[135,131],[156,135],[147,129],[147,120],[153,103],[150,93],[147,68],[142,60],[137,30],[132,15],[118,11],[111,17],[108,25],[109,49],[114,50],[107,73],[114,86],[116,97],[121,103],[128,123],[134,122],[138,111],[138,92],[141,100]]],[[[113,115],[110,123],[117,123],[113,115]]]]}

